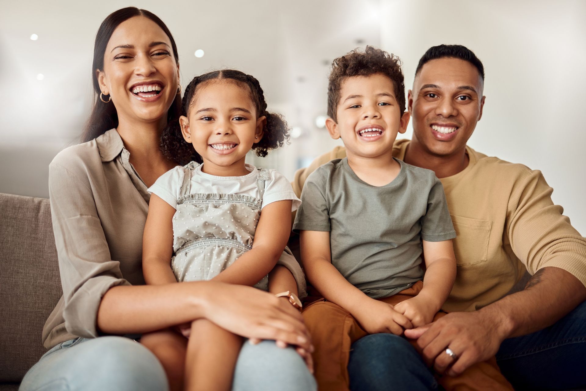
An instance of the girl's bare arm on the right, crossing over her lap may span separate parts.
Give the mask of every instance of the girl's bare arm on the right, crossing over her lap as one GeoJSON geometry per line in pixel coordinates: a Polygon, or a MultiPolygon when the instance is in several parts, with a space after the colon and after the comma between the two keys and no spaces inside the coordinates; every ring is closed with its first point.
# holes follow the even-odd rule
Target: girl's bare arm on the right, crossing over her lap
{"type": "Polygon", "coordinates": [[[212,281],[254,285],[277,264],[291,232],[291,200],[281,200],[263,208],[254,234],[253,248],[240,256],[212,281]]]}

